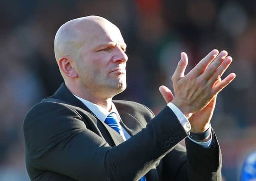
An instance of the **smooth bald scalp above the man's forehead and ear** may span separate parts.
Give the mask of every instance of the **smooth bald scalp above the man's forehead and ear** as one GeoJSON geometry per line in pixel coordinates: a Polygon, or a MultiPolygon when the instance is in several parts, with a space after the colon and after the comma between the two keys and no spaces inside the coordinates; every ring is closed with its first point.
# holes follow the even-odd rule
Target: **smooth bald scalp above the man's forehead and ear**
{"type": "Polygon", "coordinates": [[[81,17],[66,22],[55,35],[54,53],[56,61],[63,56],[77,60],[80,48],[86,43],[90,44],[97,34],[104,33],[107,29],[109,30],[109,27],[119,31],[113,23],[99,16],[81,17]]]}

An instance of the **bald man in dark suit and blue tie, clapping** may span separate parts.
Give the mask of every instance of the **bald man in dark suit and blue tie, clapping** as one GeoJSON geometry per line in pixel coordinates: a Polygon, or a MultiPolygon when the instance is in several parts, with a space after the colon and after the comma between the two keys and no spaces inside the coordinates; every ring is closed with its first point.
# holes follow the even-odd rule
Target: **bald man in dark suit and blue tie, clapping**
{"type": "Polygon", "coordinates": [[[175,96],[161,86],[168,106],[154,116],[139,103],[112,101],[126,88],[125,48],[119,29],[102,17],[59,28],[54,50],[65,83],[24,120],[31,180],[219,181],[221,153],[210,118],[216,95],[235,78],[220,79],[232,58],[213,50],[184,75],[182,53],[175,96]],[[178,142],[190,134],[186,151],[178,142]]]}

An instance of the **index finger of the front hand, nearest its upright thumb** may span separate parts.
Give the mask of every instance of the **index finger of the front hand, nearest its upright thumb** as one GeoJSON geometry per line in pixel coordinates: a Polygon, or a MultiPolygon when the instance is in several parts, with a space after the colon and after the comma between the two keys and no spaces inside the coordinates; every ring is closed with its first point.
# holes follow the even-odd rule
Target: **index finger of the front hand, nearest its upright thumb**
{"type": "Polygon", "coordinates": [[[198,76],[205,71],[205,68],[213,61],[213,59],[218,55],[219,51],[214,49],[208,53],[205,58],[203,58],[188,74],[193,74],[193,76],[198,76]]]}

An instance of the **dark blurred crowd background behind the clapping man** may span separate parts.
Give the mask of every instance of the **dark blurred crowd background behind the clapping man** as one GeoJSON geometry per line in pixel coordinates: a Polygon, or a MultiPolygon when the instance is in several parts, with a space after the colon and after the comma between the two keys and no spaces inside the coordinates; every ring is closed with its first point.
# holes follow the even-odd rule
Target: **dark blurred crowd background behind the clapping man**
{"type": "Polygon", "coordinates": [[[222,149],[225,181],[238,181],[245,157],[256,150],[256,0],[1,0],[0,181],[28,181],[23,118],[63,82],[54,36],[66,21],[99,15],[117,25],[128,45],[128,88],[156,114],[165,106],[160,85],[182,51],[189,68],[210,50],[233,57],[236,79],[220,92],[212,119],[222,149]]]}

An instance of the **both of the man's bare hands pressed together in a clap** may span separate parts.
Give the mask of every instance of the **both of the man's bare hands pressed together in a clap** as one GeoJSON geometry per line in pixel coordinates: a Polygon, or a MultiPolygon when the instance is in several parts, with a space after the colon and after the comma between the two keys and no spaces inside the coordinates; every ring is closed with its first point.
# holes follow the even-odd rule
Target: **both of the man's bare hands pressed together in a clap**
{"type": "Polygon", "coordinates": [[[181,54],[181,60],[172,76],[174,95],[166,86],[159,91],[167,103],[176,105],[191,123],[191,132],[199,133],[209,127],[215,108],[217,94],[235,78],[230,73],[223,80],[221,76],[232,62],[226,51],[212,50],[188,74],[188,56],[181,54]]]}

